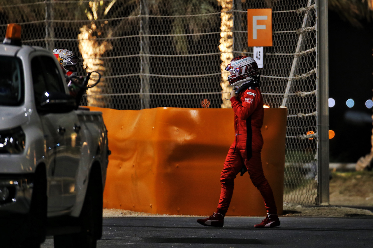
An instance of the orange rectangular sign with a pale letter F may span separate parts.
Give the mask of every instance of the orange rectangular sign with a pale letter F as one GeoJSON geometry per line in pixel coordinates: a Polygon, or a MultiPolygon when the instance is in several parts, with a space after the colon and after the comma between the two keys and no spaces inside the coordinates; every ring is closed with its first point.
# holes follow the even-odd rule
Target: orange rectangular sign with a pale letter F
{"type": "Polygon", "coordinates": [[[272,47],[272,9],[247,10],[247,46],[272,47]]]}

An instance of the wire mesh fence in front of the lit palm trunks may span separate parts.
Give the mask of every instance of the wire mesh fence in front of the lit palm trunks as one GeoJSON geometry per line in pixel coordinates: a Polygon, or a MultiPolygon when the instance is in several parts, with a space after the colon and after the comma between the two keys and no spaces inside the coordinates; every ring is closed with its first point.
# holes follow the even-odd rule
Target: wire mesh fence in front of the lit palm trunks
{"type": "Polygon", "coordinates": [[[223,69],[235,56],[254,57],[247,9],[258,8],[271,8],[273,22],[260,69],[264,102],[288,108],[284,202],[315,204],[315,0],[0,0],[0,37],[19,23],[23,44],[67,48],[84,61],[81,75],[100,72],[82,105],[225,108],[223,69]]]}

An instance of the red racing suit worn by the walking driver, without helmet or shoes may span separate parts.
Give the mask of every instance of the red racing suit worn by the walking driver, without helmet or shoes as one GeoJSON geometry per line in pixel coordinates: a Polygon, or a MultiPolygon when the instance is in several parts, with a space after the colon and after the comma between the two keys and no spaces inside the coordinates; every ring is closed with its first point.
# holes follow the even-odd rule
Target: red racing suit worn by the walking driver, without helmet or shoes
{"type": "Polygon", "coordinates": [[[220,192],[217,213],[223,215],[228,211],[231,203],[234,179],[242,166],[246,166],[250,179],[260,191],[264,206],[269,214],[277,214],[272,188],[263,174],[260,152],[263,147],[263,137],[260,128],[263,125],[264,109],[263,97],[257,86],[238,93],[231,98],[235,113],[235,140],[229,148],[220,174],[222,189],[220,192]]]}

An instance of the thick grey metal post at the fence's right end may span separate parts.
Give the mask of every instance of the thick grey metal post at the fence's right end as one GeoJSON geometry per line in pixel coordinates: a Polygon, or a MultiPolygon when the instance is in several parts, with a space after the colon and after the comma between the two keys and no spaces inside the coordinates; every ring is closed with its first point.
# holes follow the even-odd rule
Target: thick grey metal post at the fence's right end
{"type": "Polygon", "coordinates": [[[317,0],[317,204],[329,204],[329,63],[327,1],[317,0]]]}

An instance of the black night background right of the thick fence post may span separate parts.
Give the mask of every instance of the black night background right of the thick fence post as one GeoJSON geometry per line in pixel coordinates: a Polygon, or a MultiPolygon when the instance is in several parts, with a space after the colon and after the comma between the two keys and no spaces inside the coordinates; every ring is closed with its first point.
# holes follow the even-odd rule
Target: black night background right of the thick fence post
{"type": "Polygon", "coordinates": [[[342,21],[329,10],[329,129],[335,137],[329,140],[330,162],[355,163],[370,153],[372,108],[365,101],[372,99],[373,27],[362,23],[358,28],[342,21]],[[352,98],[355,105],[346,106],[352,98]]]}

